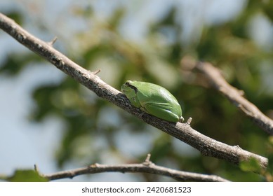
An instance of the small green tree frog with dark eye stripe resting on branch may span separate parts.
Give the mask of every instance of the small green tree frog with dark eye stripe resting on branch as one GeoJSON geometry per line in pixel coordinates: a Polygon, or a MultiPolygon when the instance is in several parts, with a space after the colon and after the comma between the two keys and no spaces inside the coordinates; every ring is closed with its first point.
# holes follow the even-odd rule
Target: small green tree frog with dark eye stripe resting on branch
{"type": "Polygon", "coordinates": [[[182,110],[178,100],[164,87],[152,83],[127,80],[121,91],[131,104],[146,113],[173,123],[182,122],[182,110]]]}

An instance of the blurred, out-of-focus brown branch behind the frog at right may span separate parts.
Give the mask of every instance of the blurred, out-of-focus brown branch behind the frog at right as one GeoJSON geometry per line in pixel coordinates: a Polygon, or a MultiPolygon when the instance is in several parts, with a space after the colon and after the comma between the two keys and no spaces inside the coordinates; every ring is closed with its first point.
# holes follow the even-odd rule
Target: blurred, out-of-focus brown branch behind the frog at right
{"type": "Polygon", "coordinates": [[[251,118],[262,130],[273,135],[273,120],[265,116],[254,104],[244,98],[244,92],[242,90],[238,90],[236,87],[229,85],[219,69],[208,62],[197,62],[191,59],[191,57],[185,57],[181,62],[187,63],[185,66],[190,66],[192,69],[197,69],[201,71],[201,73],[204,73],[216,90],[227,97],[232,104],[237,106],[248,118],[251,118]]]}

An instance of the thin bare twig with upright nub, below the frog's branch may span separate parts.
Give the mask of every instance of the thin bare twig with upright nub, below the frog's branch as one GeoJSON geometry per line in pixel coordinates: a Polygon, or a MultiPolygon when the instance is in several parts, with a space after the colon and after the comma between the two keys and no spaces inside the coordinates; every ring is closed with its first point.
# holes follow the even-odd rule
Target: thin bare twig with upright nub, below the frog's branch
{"type": "Polygon", "coordinates": [[[220,176],[215,175],[205,175],[205,174],[197,174],[192,172],[182,172],[175,169],[169,169],[166,167],[160,167],[154,165],[151,161],[149,161],[149,154],[145,162],[141,164],[121,164],[121,165],[101,165],[95,163],[93,165],[89,165],[87,167],[81,167],[78,169],[67,170],[63,172],[57,172],[54,174],[46,174],[43,175],[49,181],[57,180],[57,179],[66,179],[66,178],[74,178],[74,176],[79,176],[83,174],[97,174],[102,172],[138,172],[138,173],[148,173],[148,174],[159,174],[162,176],[171,177],[177,181],[198,181],[198,182],[227,182],[226,179],[222,179],[220,176]]]}

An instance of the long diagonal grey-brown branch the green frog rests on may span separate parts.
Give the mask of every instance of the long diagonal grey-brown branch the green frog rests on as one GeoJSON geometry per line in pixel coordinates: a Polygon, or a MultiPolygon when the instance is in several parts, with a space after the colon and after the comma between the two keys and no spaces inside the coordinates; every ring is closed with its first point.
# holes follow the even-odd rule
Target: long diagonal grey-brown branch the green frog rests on
{"type": "Polygon", "coordinates": [[[143,113],[140,109],[132,106],[126,96],[119,92],[119,90],[116,90],[114,87],[102,81],[98,76],[95,76],[95,74],[72,62],[72,60],[62,55],[58,50],[52,48],[50,44],[32,36],[32,34],[29,34],[25,29],[22,29],[20,25],[1,13],[0,28],[13,36],[13,38],[22,43],[22,45],[41,55],[41,57],[47,59],[48,62],[54,64],[58,69],[88,87],[88,89],[95,92],[98,97],[107,99],[107,101],[119,106],[133,116],[144,120],[145,123],[157,127],[159,130],[197,148],[203,155],[227,160],[236,165],[241,161],[249,161],[251,158],[255,158],[260,167],[264,169],[267,167],[267,158],[244,151],[237,146],[228,146],[220,141],[206,137],[192,129],[189,123],[169,123],[165,120],[150,116],[147,113],[143,113]]]}

